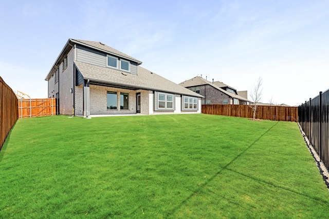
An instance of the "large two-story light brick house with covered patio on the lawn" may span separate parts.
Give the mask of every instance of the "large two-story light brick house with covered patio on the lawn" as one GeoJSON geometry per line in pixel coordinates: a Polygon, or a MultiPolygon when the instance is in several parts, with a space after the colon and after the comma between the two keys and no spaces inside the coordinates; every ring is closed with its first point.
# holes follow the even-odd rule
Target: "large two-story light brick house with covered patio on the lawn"
{"type": "Polygon", "coordinates": [[[47,77],[59,114],[201,113],[201,98],[100,42],[68,39],[47,77]]]}

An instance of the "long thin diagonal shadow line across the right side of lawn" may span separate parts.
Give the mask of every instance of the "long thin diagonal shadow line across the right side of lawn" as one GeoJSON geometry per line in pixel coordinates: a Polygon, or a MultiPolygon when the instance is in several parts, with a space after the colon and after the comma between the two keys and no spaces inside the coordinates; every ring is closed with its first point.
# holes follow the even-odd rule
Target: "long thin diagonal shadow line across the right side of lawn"
{"type": "MultiPolygon", "coordinates": [[[[234,162],[236,161],[237,158],[239,158],[242,154],[244,154],[247,150],[249,150],[256,142],[258,142],[265,134],[267,134],[273,127],[275,127],[276,125],[278,125],[279,121],[274,124],[271,128],[269,128],[267,131],[265,131],[259,138],[257,138],[257,140],[255,140],[253,143],[251,143],[245,150],[241,151],[240,154],[238,154],[236,157],[233,158],[232,161],[230,161],[227,165],[225,165],[224,167],[222,167],[220,169],[220,171],[216,172],[213,176],[211,176],[209,178],[209,180],[207,182],[205,182],[202,186],[203,187],[206,187],[211,181],[214,180],[214,178],[216,176],[218,176],[219,174],[221,174],[224,170],[227,170],[228,167],[234,162]]],[[[257,179],[255,179],[257,180],[257,179]]],[[[201,188],[200,188],[201,189],[201,188]]],[[[198,193],[200,192],[200,189],[197,189],[196,191],[194,191],[193,193],[191,193],[187,198],[186,200],[182,201],[176,208],[174,208],[172,211],[170,211],[169,213],[167,213],[167,216],[171,216],[172,214],[174,214],[178,209],[180,209],[182,206],[184,206],[193,196],[195,193],[198,193]]]]}

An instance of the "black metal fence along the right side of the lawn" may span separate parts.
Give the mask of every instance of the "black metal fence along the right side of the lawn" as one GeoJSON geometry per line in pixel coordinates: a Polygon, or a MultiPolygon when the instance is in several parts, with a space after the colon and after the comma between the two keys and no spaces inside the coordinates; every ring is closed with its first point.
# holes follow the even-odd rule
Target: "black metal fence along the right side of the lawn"
{"type": "Polygon", "coordinates": [[[329,170],[329,89],[298,107],[299,125],[329,170]]]}

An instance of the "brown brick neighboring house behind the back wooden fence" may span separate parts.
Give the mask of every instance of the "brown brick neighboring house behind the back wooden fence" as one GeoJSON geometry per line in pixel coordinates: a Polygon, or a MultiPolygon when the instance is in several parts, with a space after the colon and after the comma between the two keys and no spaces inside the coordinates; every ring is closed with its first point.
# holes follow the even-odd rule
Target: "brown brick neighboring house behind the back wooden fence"
{"type": "Polygon", "coordinates": [[[196,76],[179,84],[198,94],[203,95],[202,104],[236,104],[249,105],[247,91],[236,91],[236,89],[222,83],[209,82],[196,76]]]}

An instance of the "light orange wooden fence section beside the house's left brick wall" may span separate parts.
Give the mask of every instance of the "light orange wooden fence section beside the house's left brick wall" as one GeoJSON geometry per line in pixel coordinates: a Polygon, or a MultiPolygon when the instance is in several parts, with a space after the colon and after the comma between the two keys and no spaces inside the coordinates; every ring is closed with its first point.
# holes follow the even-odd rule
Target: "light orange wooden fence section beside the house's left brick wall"
{"type": "Polygon", "coordinates": [[[56,115],[56,98],[19,99],[20,118],[56,115]]]}

